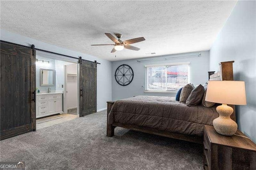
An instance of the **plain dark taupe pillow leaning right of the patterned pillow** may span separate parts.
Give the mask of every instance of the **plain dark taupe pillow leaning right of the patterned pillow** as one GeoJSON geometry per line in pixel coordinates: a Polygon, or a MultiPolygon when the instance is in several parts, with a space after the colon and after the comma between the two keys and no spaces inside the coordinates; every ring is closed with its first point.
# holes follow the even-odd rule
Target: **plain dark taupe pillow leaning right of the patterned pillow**
{"type": "Polygon", "coordinates": [[[188,99],[186,100],[187,106],[195,106],[201,103],[202,98],[204,96],[204,86],[198,85],[196,88],[194,88],[190,95],[188,96],[188,99]]]}

